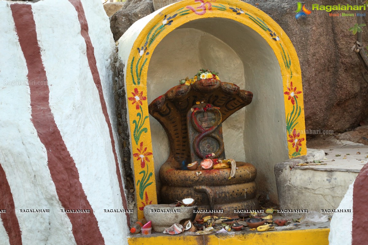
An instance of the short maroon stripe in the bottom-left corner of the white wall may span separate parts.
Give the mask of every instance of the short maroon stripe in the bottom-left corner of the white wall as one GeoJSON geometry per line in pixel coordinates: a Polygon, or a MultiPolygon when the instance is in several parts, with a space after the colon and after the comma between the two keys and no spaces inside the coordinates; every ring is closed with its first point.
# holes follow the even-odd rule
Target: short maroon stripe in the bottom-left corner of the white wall
{"type": "Polygon", "coordinates": [[[19,227],[15,205],[8,180],[3,167],[0,164],[0,209],[6,209],[6,213],[0,213],[4,228],[9,236],[10,245],[22,245],[21,228],[19,227]]]}

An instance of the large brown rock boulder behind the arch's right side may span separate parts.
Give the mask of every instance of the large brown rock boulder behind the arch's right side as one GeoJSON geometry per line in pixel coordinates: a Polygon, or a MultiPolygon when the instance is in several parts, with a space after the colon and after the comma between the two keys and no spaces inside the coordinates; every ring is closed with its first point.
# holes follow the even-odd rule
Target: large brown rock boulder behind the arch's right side
{"type": "MultiPolygon", "coordinates": [[[[297,2],[293,0],[244,2],[272,17],[294,44],[302,72],[306,129],[343,132],[367,118],[368,84],[360,74],[357,55],[350,50],[356,36],[348,29],[357,23],[356,17],[330,17],[329,12],[312,10],[316,2],[311,0],[303,4],[312,13],[299,19],[295,18],[297,2]]],[[[326,0],[323,4],[347,3],[326,0]]],[[[368,27],[363,29],[363,44],[368,45],[368,27]]]]}

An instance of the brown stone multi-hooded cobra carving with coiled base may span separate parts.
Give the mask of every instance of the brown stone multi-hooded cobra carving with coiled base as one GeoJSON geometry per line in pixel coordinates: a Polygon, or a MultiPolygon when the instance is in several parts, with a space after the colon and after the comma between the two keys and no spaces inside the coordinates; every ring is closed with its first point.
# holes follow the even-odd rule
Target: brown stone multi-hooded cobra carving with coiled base
{"type": "Polygon", "coordinates": [[[149,113],[164,127],[170,143],[169,158],[160,168],[163,203],[189,196],[200,208],[224,209],[228,214],[259,207],[256,169],[250,163],[237,162],[230,180],[231,169],[198,170],[200,174],[182,170],[183,162],[201,161],[208,153],[225,158],[222,122],[250,104],[252,97],[233,83],[203,79],[175,86],[152,101],[149,113]]]}

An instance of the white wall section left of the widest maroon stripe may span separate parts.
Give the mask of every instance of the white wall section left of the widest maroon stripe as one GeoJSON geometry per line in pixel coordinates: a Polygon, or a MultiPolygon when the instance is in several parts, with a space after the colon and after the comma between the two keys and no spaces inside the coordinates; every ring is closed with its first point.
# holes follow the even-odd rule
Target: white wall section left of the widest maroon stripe
{"type": "MultiPolygon", "coordinates": [[[[63,207],[47,167],[46,149],[31,122],[30,91],[25,84],[28,70],[6,1],[0,1],[0,15],[3,30],[0,35],[3,44],[0,52],[0,162],[13,194],[22,242],[73,245],[71,223],[65,213],[60,213],[63,207]],[[13,86],[5,80],[14,81],[13,86]],[[19,209],[50,209],[50,213],[20,214],[19,209]]],[[[7,237],[3,238],[4,243],[8,241],[7,237]]]]}

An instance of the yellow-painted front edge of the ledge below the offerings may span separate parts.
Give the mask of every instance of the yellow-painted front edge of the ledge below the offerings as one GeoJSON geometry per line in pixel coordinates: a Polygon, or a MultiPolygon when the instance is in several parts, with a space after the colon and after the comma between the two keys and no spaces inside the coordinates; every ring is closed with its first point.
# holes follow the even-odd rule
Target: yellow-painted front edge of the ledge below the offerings
{"type": "Polygon", "coordinates": [[[267,244],[267,245],[285,245],[285,244],[303,244],[303,245],[328,245],[329,228],[318,228],[308,230],[292,231],[265,231],[265,232],[236,232],[236,233],[216,233],[209,235],[166,235],[152,234],[149,236],[128,237],[130,245],[205,245],[205,244],[267,244]]]}

